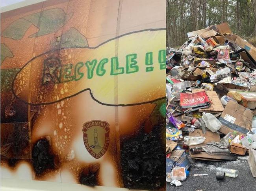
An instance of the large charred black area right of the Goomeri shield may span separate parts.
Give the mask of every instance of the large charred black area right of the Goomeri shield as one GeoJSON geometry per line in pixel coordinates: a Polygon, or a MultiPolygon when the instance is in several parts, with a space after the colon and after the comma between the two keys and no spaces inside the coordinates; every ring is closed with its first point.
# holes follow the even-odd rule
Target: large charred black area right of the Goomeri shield
{"type": "Polygon", "coordinates": [[[141,130],[137,136],[123,141],[121,166],[124,187],[156,190],[165,186],[164,132],[165,124],[161,123],[150,133],[141,130]]]}

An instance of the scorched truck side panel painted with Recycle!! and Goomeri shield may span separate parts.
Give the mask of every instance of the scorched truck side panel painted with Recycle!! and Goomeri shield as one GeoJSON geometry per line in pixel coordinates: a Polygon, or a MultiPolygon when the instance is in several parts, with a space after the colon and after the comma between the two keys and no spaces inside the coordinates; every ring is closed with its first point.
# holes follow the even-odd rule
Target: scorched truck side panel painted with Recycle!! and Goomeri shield
{"type": "Polygon", "coordinates": [[[1,14],[1,178],[165,187],[165,2],[1,14]]]}

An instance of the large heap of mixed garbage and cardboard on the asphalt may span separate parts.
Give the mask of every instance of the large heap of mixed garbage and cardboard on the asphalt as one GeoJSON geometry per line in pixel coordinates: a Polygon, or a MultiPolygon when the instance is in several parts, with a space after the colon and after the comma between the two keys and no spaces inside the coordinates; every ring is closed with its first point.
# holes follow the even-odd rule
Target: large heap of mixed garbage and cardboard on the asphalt
{"type": "MultiPolygon", "coordinates": [[[[167,48],[166,181],[182,185],[195,159],[247,153],[256,177],[256,48],[227,23],[187,35],[179,49],[167,48]]],[[[224,176],[238,171],[217,168],[224,176]]]]}

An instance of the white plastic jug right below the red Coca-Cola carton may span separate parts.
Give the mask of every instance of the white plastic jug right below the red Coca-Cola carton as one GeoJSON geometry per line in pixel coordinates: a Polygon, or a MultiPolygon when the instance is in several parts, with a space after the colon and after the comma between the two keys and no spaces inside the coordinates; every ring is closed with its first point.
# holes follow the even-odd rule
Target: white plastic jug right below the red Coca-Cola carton
{"type": "Polygon", "coordinates": [[[211,113],[203,112],[202,120],[211,132],[216,132],[221,128],[221,122],[211,113]]]}

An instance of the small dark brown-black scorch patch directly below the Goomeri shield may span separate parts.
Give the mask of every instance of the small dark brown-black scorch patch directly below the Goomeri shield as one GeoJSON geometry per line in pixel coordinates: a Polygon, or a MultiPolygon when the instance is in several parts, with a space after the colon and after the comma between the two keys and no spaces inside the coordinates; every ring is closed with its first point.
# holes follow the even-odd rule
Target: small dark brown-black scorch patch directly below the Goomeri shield
{"type": "Polygon", "coordinates": [[[84,167],[80,173],[79,183],[86,186],[99,186],[99,169],[100,165],[98,163],[84,167]]]}

